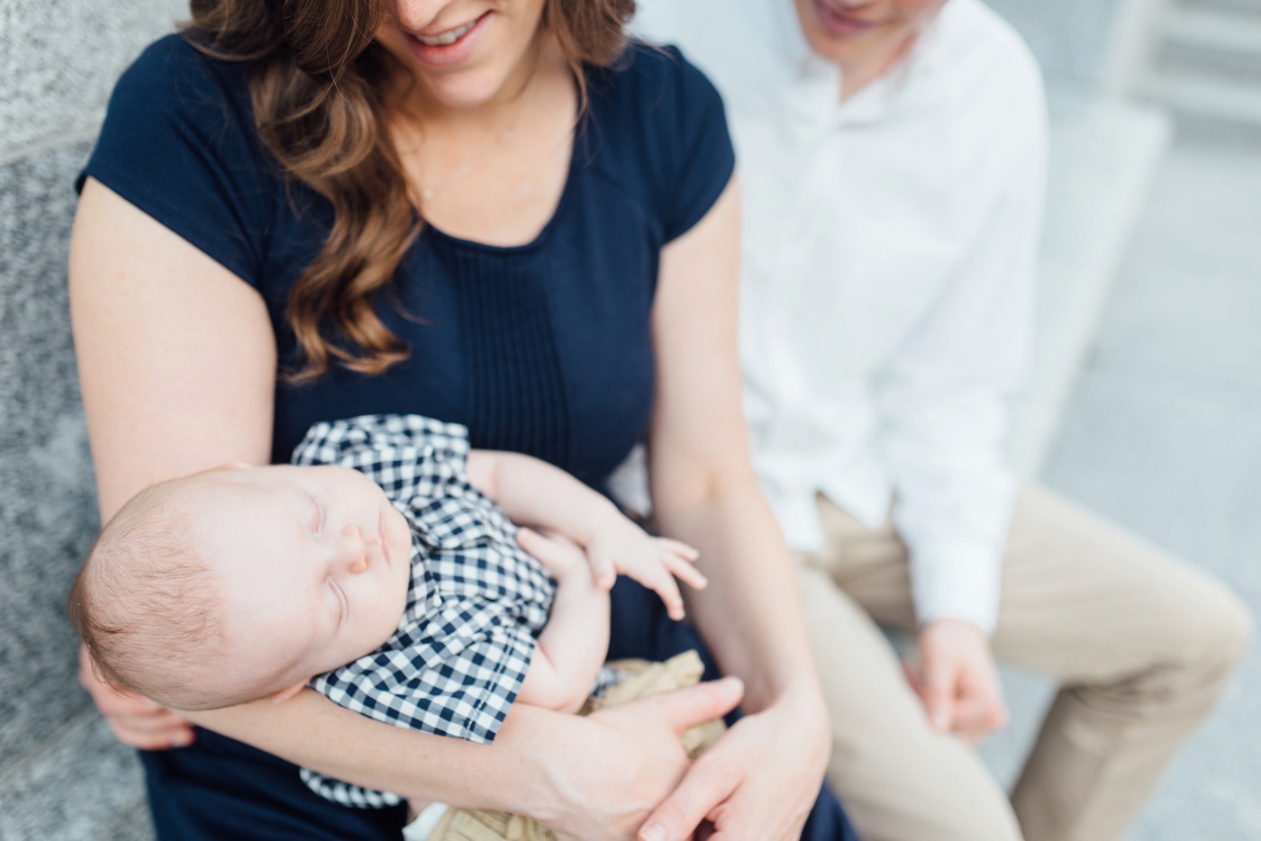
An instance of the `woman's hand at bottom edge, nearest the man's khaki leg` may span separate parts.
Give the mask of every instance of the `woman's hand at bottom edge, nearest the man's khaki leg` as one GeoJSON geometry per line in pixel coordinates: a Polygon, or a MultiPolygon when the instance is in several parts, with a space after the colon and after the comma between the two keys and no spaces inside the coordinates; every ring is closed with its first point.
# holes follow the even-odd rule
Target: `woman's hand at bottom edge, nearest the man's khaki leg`
{"type": "Polygon", "coordinates": [[[797,841],[827,765],[827,715],[812,692],[741,719],[692,763],[639,841],[797,841]]]}

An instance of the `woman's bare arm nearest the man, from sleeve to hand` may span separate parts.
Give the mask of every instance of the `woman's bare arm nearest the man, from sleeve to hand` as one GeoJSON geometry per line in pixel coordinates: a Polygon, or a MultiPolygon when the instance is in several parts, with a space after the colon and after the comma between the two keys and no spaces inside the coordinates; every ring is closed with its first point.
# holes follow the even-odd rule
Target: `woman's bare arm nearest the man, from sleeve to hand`
{"type": "Polygon", "coordinates": [[[753,473],[736,347],[739,189],[662,252],[653,313],[657,393],[649,438],[663,533],[701,552],[689,606],[753,714],[704,754],[652,816],[653,841],[702,818],[725,841],[796,840],[827,763],[827,717],[792,561],[753,473]]]}

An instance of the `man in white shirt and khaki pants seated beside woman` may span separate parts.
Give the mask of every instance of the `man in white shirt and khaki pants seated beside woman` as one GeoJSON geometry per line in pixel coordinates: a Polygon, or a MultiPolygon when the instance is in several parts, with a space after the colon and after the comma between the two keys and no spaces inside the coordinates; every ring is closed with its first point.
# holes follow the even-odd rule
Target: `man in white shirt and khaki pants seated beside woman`
{"type": "Polygon", "coordinates": [[[980,0],[641,0],[636,26],[728,103],[749,429],[855,826],[1119,837],[1250,619],[1004,464],[1045,175],[1034,59],[980,0]],[[909,681],[873,619],[917,630],[909,681]],[[968,748],[1006,722],[991,652],[1063,687],[1010,803],[968,748]]]}

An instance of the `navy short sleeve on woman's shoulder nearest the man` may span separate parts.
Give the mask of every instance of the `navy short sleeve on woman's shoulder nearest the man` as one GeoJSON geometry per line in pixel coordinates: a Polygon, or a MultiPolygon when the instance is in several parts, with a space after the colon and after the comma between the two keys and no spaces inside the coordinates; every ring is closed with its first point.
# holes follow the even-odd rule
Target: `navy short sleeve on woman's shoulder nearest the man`
{"type": "Polygon", "coordinates": [[[718,88],[678,49],[661,50],[675,66],[675,136],[658,189],[662,232],[671,242],[705,218],[723,194],[735,171],[735,150],[718,88]]]}

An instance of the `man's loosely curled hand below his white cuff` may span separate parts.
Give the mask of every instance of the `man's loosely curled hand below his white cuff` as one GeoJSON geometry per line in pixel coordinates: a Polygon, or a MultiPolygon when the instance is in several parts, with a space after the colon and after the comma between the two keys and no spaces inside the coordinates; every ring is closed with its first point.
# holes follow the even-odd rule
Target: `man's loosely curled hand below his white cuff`
{"type": "Polygon", "coordinates": [[[921,628],[919,673],[912,685],[938,733],[975,745],[1008,725],[990,641],[970,622],[937,619],[921,628]]]}

